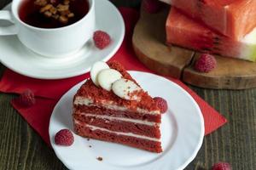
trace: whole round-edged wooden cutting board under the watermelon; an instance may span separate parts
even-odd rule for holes
[[[209,73],[193,70],[200,55],[193,50],[166,46],[166,18],[169,9],[158,14],[141,10],[132,37],[133,48],[144,65],[160,75],[181,79],[201,88],[256,88],[256,63],[216,56],[218,66]]]

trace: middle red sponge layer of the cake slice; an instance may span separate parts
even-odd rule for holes
[[[158,126],[148,126],[144,124],[125,121],[110,121],[108,119],[101,119],[95,118],[93,116],[84,116],[78,114],[74,114],[73,119],[95,127],[107,128],[108,130],[115,132],[135,133],[151,138],[160,139],[160,129]]]

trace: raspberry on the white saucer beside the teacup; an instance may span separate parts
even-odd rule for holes
[[[95,31],[93,34],[93,40],[97,48],[106,48],[111,42],[111,37],[105,31]]]

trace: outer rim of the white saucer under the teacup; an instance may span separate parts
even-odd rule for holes
[[[124,41],[125,38],[125,21],[124,18],[122,17],[122,14],[120,14],[118,8],[116,8],[113,3],[109,2],[108,0],[102,0],[102,2],[104,3],[108,3],[108,5],[110,5],[111,10],[114,10],[114,12],[117,14],[116,16],[119,18],[118,20],[120,21],[119,24],[119,29],[120,29],[120,37],[118,39],[118,41],[116,42],[116,46],[113,47],[113,50],[110,51],[104,58],[100,59],[102,61],[108,61],[108,59],[111,59],[113,57],[114,54],[117,53],[117,51],[119,50],[119,48],[122,45],[122,42]],[[9,10],[9,8],[11,7],[12,3],[8,3],[3,10]],[[96,25],[96,29],[97,29],[97,25]],[[16,36],[16,35],[13,35]],[[20,42],[21,43],[21,42]],[[23,44],[22,44],[23,45]],[[25,46],[24,46],[25,48]],[[29,50],[29,49],[28,49]],[[33,52],[32,52],[33,53]],[[34,53],[35,54],[35,53]],[[39,54],[35,54],[35,56],[40,56]],[[81,69],[79,71],[73,71],[73,73],[71,74],[65,74],[65,75],[57,75],[57,76],[52,76],[52,74],[50,75],[44,75],[44,74],[40,74],[40,75],[35,75],[32,72],[33,71],[24,71],[24,69],[18,69],[15,68],[14,66],[10,65],[9,62],[4,61],[3,59],[1,59],[2,57],[0,57],[0,62],[5,65],[7,68],[9,68],[12,71],[15,71],[18,74],[21,74],[23,76],[26,77],[32,77],[32,78],[37,78],[37,79],[44,79],[44,80],[57,80],[57,79],[64,79],[64,78],[70,78],[70,77],[77,77],[77,76],[81,76],[85,73],[87,73],[88,71],[90,71],[90,66],[87,67],[86,69]],[[47,59],[47,57],[45,57],[44,59]],[[55,71],[52,71],[52,73]],[[54,75],[54,74],[53,74]]]

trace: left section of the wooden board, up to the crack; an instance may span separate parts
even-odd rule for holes
[[[166,46],[165,25],[168,13],[169,8],[164,8],[157,14],[148,14],[141,8],[132,45],[137,58],[150,70],[180,79],[183,68],[190,64],[195,52]]]

